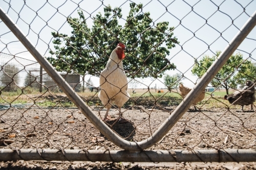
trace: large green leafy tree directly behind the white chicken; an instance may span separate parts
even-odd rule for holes
[[[155,23],[142,4],[130,4],[124,26],[118,24],[121,8],[104,8],[104,14],[93,17],[89,28],[83,12],[79,18],[68,18],[72,35],[52,32],[55,52],[48,60],[58,71],[75,71],[80,75],[99,77],[118,42],[126,46],[123,67],[131,78],[162,77],[165,70],[175,69],[166,56],[179,43],[167,21]],[[123,18],[121,18],[123,19]]]

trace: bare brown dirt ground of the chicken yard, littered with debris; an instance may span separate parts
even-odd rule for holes
[[[191,107],[192,108],[192,107]],[[101,117],[105,110],[93,107]],[[99,109],[99,110],[96,110]],[[129,141],[141,141],[154,133],[175,107],[122,108],[127,123],[108,125]],[[249,107],[244,107],[249,110]],[[112,108],[110,116],[117,118]],[[122,150],[105,138],[78,109],[10,108],[0,111],[0,149]],[[164,138],[147,150],[256,149],[256,113],[237,109],[188,110]],[[112,125],[112,126],[111,126]],[[3,141],[6,142],[3,142]],[[1,162],[1,169],[256,169],[250,163],[138,163],[138,162]]]

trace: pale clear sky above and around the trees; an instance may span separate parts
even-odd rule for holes
[[[79,8],[88,17],[87,23],[91,27],[93,20],[90,16],[94,16],[98,12],[103,13],[104,5],[110,4],[112,7],[120,7],[123,19],[120,19],[119,23],[124,25],[130,10],[129,4],[132,1],[49,0],[47,2],[44,0],[29,0],[25,2],[0,0],[0,7],[27,35],[37,50],[48,57],[50,56],[48,45],[54,49],[51,32],[58,31],[71,35],[72,30],[67,23],[67,17],[77,17]],[[194,65],[194,60],[200,59],[204,55],[212,56],[216,51],[223,51],[228,42],[256,10],[255,0],[141,0],[135,3],[142,3],[143,12],[150,12],[155,23],[168,21],[169,27],[175,27],[174,36],[178,38],[180,44],[170,50],[170,55],[167,58],[177,66],[177,69],[166,71],[166,74],[183,73],[186,79],[183,79],[182,82],[189,87],[193,87],[197,80],[197,77],[192,76],[190,71]],[[34,60],[26,48],[9,32],[3,22],[0,22],[0,28],[0,52]],[[249,59],[252,62],[256,62],[255,48],[256,28],[239,46],[237,52],[242,53],[245,59],[250,57]],[[93,78],[92,80],[94,85],[98,86],[98,79]],[[155,84],[157,84],[157,88],[164,87],[164,84],[161,83],[162,79],[159,80],[148,78],[140,81],[143,84],[150,85],[150,87],[155,86]],[[140,87],[145,86],[141,85]]]

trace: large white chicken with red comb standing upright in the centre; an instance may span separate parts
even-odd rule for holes
[[[101,90],[98,96],[106,107],[104,120],[109,119],[108,113],[113,102],[118,106],[118,119],[121,118],[121,107],[130,99],[130,94],[127,92],[128,81],[122,62],[125,57],[124,50],[124,44],[117,44],[117,47],[110,55],[108,63],[100,73],[99,84]]]

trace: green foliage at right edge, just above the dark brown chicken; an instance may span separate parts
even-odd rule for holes
[[[245,85],[246,80],[255,81],[256,80],[256,63],[249,62],[246,65],[245,71],[240,71],[235,76],[237,79],[237,84]]]

